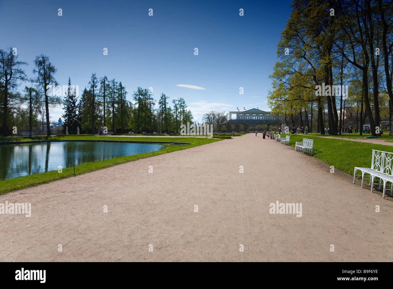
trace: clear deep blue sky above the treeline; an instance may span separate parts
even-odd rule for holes
[[[199,122],[210,110],[268,109],[268,76],[291,3],[0,0],[2,30],[9,31],[0,48],[16,47],[30,77],[42,53],[56,66],[61,85],[71,77],[83,90],[96,73],[121,81],[129,100],[138,86],[152,87],[155,99],[162,92],[170,102],[182,97]],[[60,107],[51,109],[51,121],[61,114]]]

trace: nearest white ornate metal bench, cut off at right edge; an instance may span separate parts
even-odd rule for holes
[[[385,198],[386,191],[386,183],[391,182],[391,189],[393,190],[393,153],[389,153],[387,151],[377,151],[373,149],[373,156],[371,158],[371,168],[359,168],[355,167],[353,172],[353,183],[355,183],[356,171],[362,172],[362,188],[363,188],[363,180],[364,174],[367,173],[370,175],[370,183],[371,183],[371,192],[373,192],[374,186],[374,178],[377,177],[380,179],[379,188],[381,188],[381,182],[384,182],[384,192],[382,198]],[[360,175],[359,175],[360,176]]]

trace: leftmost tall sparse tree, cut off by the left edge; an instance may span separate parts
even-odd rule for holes
[[[11,92],[18,86],[18,79],[26,79],[26,74],[20,66],[27,65],[27,63],[17,59],[18,55],[14,55],[12,47],[9,48],[9,51],[0,49],[0,88],[3,88],[3,136],[9,136],[7,121]]]

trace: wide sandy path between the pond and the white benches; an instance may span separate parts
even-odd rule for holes
[[[393,202],[329,171],[246,134],[11,192],[33,212],[0,215],[0,261],[393,261]]]

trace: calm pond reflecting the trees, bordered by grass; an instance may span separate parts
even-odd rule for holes
[[[96,160],[158,151],[162,144],[38,142],[0,145],[0,180],[57,170]]]

